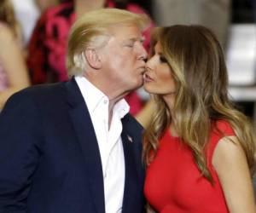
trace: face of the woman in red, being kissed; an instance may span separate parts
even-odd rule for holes
[[[153,95],[174,95],[176,92],[172,69],[162,54],[162,48],[159,42],[155,44],[154,55],[152,55],[146,64],[144,89]]]

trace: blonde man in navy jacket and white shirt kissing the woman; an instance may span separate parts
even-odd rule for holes
[[[123,99],[143,84],[144,16],[75,22],[66,83],[12,96],[0,114],[0,212],[143,211],[142,128]]]

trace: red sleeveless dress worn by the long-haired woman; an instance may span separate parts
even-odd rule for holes
[[[218,175],[212,166],[212,154],[224,135],[235,135],[229,123],[220,120],[212,130],[207,149],[207,164],[214,184],[201,176],[192,152],[169,131],[160,140],[154,161],[148,166],[144,193],[148,203],[160,213],[229,212]]]

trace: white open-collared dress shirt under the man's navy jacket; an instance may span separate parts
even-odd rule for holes
[[[113,116],[108,127],[108,96],[97,89],[86,78],[77,76],[76,82],[90,112],[96,139],[102,158],[106,213],[122,211],[125,188],[125,158],[121,140],[121,118],[130,110],[122,99],[113,107]]]

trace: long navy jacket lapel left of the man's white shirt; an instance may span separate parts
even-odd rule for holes
[[[95,130],[90,119],[90,113],[84,103],[84,98],[74,78],[67,82],[66,85],[67,101],[71,106],[69,110],[70,118],[84,155],[84,166],[87,170],[86,176],[89,177],[90,191],[97,212],[103,213],[105,212],[105,204],[102,161]]]

